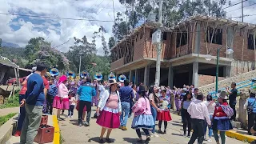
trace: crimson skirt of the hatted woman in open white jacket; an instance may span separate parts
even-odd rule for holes
[[[118,113],[114,114],[112,112],[102,110],[96,123],[107,129],[117,129],[120,126],[120,116]]]

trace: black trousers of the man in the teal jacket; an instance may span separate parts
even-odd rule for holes
[[[83,108],[86,106],[86,122],[90,123],[91,102],[79,101],[78,122],[82,122]]]

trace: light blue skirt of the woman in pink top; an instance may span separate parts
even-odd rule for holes
[[[133,122],[131,124],[131,128],[133,129],[150,129],[152,130],[154,126],[154,118],[152,115],[141,114],[138,116],[134,116]]]

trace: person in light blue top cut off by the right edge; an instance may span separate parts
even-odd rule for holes
[[[254,122],[256,122],[256,99],[255,99],[255,90],[250,90],[250,97],[246,99],[246,103],[244,105],[244,109],[247,110],[248,114],[248,134],[250,133],[250,128],[254,126]]]

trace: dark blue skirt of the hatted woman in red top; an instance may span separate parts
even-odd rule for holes
[[[229,118],[223,118],[223,119],[214,119],[213,122],[213,130],[220,130],[220,131],[226,131],[233,129],[233,126],[231,125]]]

